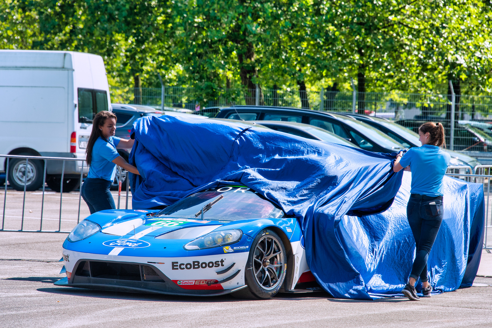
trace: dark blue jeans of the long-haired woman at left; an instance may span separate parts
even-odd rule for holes
[[[91,214],[103,209],[116,209],[110,187],[111,181],[105,179],[88,178],[84,180],[81,194]]]

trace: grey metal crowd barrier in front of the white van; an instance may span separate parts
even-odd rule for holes
[[[0,231],[15,231],[15,232],[50,232],[50,233],[69,233],[70,231],[62,231],[62,202],[63,202],[63,178],[65,174],[65,163],[67,161],[77,161],[81,162],[80,165],[80,186],[79,186],[79,207],[78,207],[78,213],[77,213],[77,223],[80,222],[80,204],[81,204],[81,191],[82,191],[82,184],[83,184],[83,174],[84,174],[84,167],[87,168],[87,165],[84,166],[85,163],[85,158],[69,158],[69,157],[46,157],[46,156],[26,156],[26,155],[0,155],[0,158],[6,158],[6,165],[5,165],[5,188],[4,188],[4,194],[3,194],[3,212],[2,212],[2,224],[1,224],[1,229]],[[40,215],[40,222],[39,222],[39,230],[25,230],[24,229],[24,213],[26,209],[26,187],[27,187],[27,177],[28,174],[27,172],[24,174],[24,195],[23,195],[23,201],[22,201],[22,217],[21,217],[21,229],[19,230],[7,230],[5,229],[5,207],[6,207],[6,200],[7,200],[7,184],[8,184],[8,172],[9,172],[9,162],[11,158],[21,158],[21,159],[26,159],[26,171],[28,168],[28,163],[30,159],[37,159],[37,160],[42,160],[44,162],[44,170],[43,170],[43,184],[42,184],[42,198],[41,198],[41,215]],[[43,230],[43,210],[44,210],[44,196],[45,196],[45,185],[46,185],[46,162],[47,160],[58,160],[58,161],[63,161],[62,163],[62,179],[60,181],[60,211],[59,211],[59,219],[58,219],[58,230]],[[122,171],[122,169],[117,166],[118,168],[118,173],[120,176],[120,182],[119,182],[119,190],[118,190],[118,207],[117,209],[120,209],[120,198],[121,198],[121,188],[122,188],[122,179],[124,179],[127,176],[127,171]],[[125,209],[128,209],[128,193],[129,191],[129,179],[126,179],[126,202],[125,202]]]

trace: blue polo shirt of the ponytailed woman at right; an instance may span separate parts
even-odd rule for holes
[[[437,146],[423,145],[408,149],[400,159],[400,165],[410,165],[412,171],[412,194],[431,197],[442,196],[442,179],[451,156]]]

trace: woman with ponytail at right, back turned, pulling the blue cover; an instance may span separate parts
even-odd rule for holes
[[[421,147],[413,147],[404,155],[397,155],[393,170],[400,171],[410,167],[412,184],[406,214],[413,238],[416,254],[408,283],[401,291],[411,300],[419,300],[415,283],[422,282],[422,297],[431,297],[432,287],[427,275],[427,259],[442,221],[442,179],[451,156],[441,148],[446,147],[444,126],[441,123],[427,122],[419,127]]]

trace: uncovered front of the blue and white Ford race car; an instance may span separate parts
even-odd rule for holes
[[[260,299],[321,290],[303,242],[295,218],[244,185],[222,184],[160,211],[90,215],[64,241],[67,276],[55,285]]]

